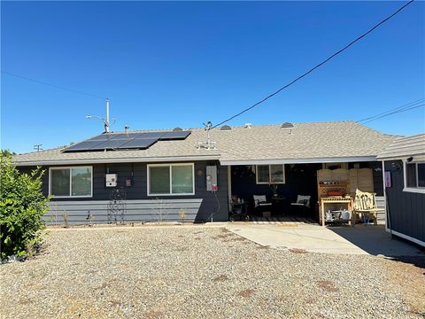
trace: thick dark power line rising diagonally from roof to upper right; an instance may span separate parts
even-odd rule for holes
[[[288,84],[282,86],[281,89],[276,90],[274,93],[268,95],[267,97],[264,97],[263,99],[261,99],[259,102],[255,103],[254,105],[251,105],[250,107],[245,108],[243,111],[236,113],[235,115],[229,117],[227,120],[225,121],[221,121],[219,124],[216,124],[213,126],[213,128],[217,128],[218,126],[231,121],[233,119],[235,119],[237,116],[242,115],[243,113],[246,113],[248,111],[250,111],[251,109],[253,109],[255,106],[260,105],[263,102],[266,102],[267,99],[269,99],[270,97],[274,97],[276,94],[280,93],[283,89],[286,89],[288,87],[290,87],[292,84],[294,84],[295,82],[298,82],[299,80],[301,80],[302,78],[304,78],[306,75],[311,74],[315,69],[323,66],[325,63],[327,63],[331,58],[335,58],[338,54],[342,53],[343,51],[347,50],[348,48],[350,48],[352,46],[352,44],[357,43],[360,39],[364,38],[366,35],[370,34],[372,31],[375,30],[375,28],[381,26],[383,23],[385,23],[386,21],[388,21],[389,19],[391,19],[392,17],[394,17],[396,14],[398,14],[398,12],[401,12],[403,9],[406,8],[407,5],[412,4],[414,0],[409,1],[407,4],[402,5],[396,12],[393,12],[392,14],[390,14],[390,16],[388,16],[387,18],[383,19],[381,22],[379,22],[378,24],[376,24],[374,27],[371,27],[369,30],[367,30],[367,32],[365,32],[363,35],[360,35],[358,38],[356,38],[355,40],[353,40],[351,43],[348,43],[347,45],[344,46],[344,48],[342,48],[339,51],[336,51],[334,54],[332,54],[330,57],[326,58],[325,60],[323,60],[321,63],[319,63],[316,66],[313,66],[313,68],[311,68],[310,70],[308,70],[307,72],[305,72],[305,74],[301,74],[298,76],[298,78],[296,78],[295,80],[289,82]]]

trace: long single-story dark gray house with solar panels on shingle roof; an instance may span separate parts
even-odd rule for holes
[[[42,191],[53,197],[53,223],[227,221],[232,195],[251,205],[256,194],[284,198],[285,205],[309,195],[317,219],[318,171],[344,187],[350,172],[351,188],[364,185],[384,204],[376,156],[396,137],[354,121],[133,130],[20,154],[14,162],[24,172],[45,169]]]

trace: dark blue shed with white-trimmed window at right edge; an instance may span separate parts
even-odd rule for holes
[[[377,159],[385,171],[387,231],[425,246],[425,134],[396,139]]]

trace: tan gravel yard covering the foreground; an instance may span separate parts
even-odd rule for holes
[[[41,254],[0,265],[0,311],[10,318],[412,318],[425,314],[421,267],[274,250],[211,226],[51,230]]]

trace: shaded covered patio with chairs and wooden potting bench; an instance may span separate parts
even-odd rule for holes
[[[242,210],[251,221],[259,223],[320,223],[322,209],[325,223],[344,223],[341,214],[336,220],[329,212],[347,210],[351,216],[357,189],[375,193],[379,207],[385,204],[382,163],[376,160],[273,160],[232,165],[228,167],[228,185],[230,215]],[[384,223],[384,219],[384,214],[380,214],[377,222]],[[351,217],[345,222],[350,220]]]

